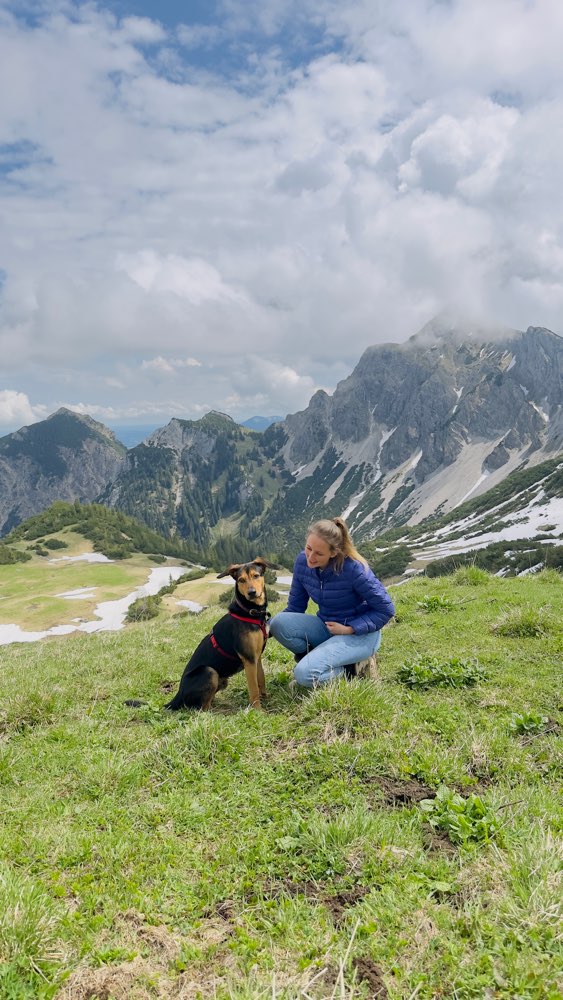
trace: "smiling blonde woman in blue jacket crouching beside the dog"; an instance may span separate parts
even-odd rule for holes
[[[309,598],[316,615],[305,614]],[[353,665],[379,649],[381,629],[394,614],[385,587],[335,517],[309,528],[287,608],[272,618],[270,634],[295,654],[297,683],[317,687],[353,675]]]

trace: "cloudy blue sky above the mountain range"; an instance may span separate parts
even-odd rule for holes
[[[0,0],[0,434],[563,334],[561,0]]]

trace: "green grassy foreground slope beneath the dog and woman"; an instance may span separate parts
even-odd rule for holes
[[[290,688],[271,640],[263,713],[162,712],[217,607],[3,647],[2,1000],[561,997],[563,633],[492,628],[560,581],[394,593],[381,682]]]

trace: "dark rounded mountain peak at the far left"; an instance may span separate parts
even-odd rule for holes
[[[0,438],[0,534],[55,500],[94,500],[125,452],[103,424],[65,408]]]

